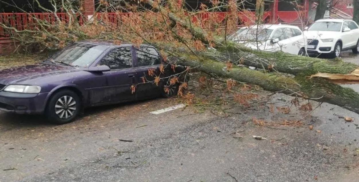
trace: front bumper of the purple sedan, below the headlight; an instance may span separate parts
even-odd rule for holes
[[[23,94],[0,91],[0,110],[17,114],[41,114],[49,93]]]

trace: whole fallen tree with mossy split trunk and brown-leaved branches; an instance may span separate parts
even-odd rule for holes
[[[258,85],[266,91],[328,102],[359,113],[359,94],[333,83],[356,83],[359,80],[356,74],[358,65],[340,59],[326,60],[249,49],[227,40],[225,35],[220,36],[211,32],[212,30],[200,28],[192,23],[183,9],[174,11],[160,6],[157,1],[146,2],[157,9],[160,16],[149,12],[149,15],[143,16],[134,14],[132,19],[121,17],[123,24],[120,28],[109,26],[102,21],[89,22],[82,26],[73,22],[71,27],[63,22],[57,25],[42,23],[45,30],[32,30],[32,33],[35,33],[32,35],[28,31],[18,31],[2,25],[3,28],[15,30],[17,37],[14,35],[14,38],[18,40],[55,42],[51,45],[58,47],[68,41],[93,38],[111,39],[114,43],[130,41],[135,45],[146,42],[157,46],[163,51],[162,54],[167,53],[169,64],[190,66],[211,75]],[[48,31],[48,27],[52,28],[51,31]],[[25,38],[21,37],[22,35],[25,35]],[[158,41],[162,44],[155,43]],[[251,70],[237,64],[271,72]]]

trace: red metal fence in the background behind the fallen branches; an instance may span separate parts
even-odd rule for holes
[[[97,19],[106,20],[113,25],[121,24],[124,18],[129,18],[132,13],[96,13]],[[227,12],[211,12],[211,13],[199,13],[192,15],[191,19],[193,22],[199,22],[200,25],[205,26],[211,23],[223,24]],[[57,16],[57,17],[56,17]],[[82,23],[82,17],[76,15],[69,15],[67,13],[0,13],[0,23],[5,24],[8,27],[15,28],[16,30],[36,30],[41,25],[37,20],[47,21],[50,24],[54,24],[57,19],[67,23],[70,17],[77,19]],[[278,19],[283,23],[292,23],[299,19],[297,11],[278,11]],[[255,12],[253,11],[241,11],[238,12],[239,24],[251,25],[256,21]],[[211,20],[211,21],[209,21]],[[270,23],[271,12],[266,11],[262,17],[264,23]],[[0,37],[8,36],[12,30],[2,28],[0,26]]]

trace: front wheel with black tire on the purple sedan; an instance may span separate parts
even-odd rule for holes
[[[81,99],[75,92],[61,90],[51,96],[45,114],[50,123],[71,123],[80,114],[81,106]]]

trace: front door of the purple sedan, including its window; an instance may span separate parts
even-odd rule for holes
[[[90,93],[92,105],[126,102],[135,99],[131,91],[131,86],[135,84],[132,55],[131,47],[118,47],[112,49],[99,61],[97,66],[106,65],[110,71],[102,73],[106,77],[107,85],[103,88],[103,94]]]

